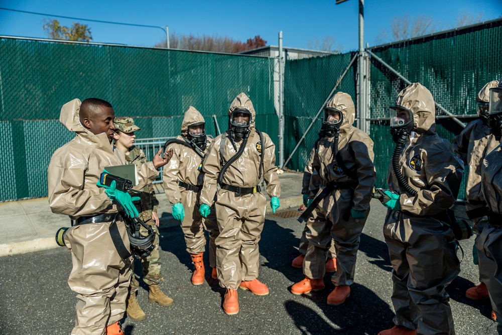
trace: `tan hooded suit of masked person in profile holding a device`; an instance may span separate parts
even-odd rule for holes
[[[442,219],[458,195],[463,164],[451,144],[436,134],[431,92],[419,83],[403,89],[396,105],[413,113],[413,130],[399,156],[400,170],[416,195],[398,183],[392,168],[389,189],[400,194],[401,210],[387,212],[384,237],[393,266],[394,322],[419,334],[453,334],[445,287],[458,275],[457,242]]]

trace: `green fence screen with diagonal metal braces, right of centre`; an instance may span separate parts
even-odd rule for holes
[[[429,88],[435,101],[450,113],[473,115],[476,114],[477,92],[485,83],[499,79],[502,75],[502,20],[369,50],[411,82],[420,82]],[[286,157],[349,64],[350,58],[349,54],[343,54],[322,59],[287,61],[284,110],[291,135],[286,141]],[[389,106],[394,105],[399,91],[407,84],[376,59],[370,57],[370,64],[368,119],[388,118]],[[337,89],[349,93],[354,102],[355,71],[356,62]],[[445,114],[436,108],[436,115]],[[468,123],[475,119],[460,120]],[[389,135],[389,122],[377,120],[368,123],[369,135],[374,142],[377,185],[385,186],[395,147]],[[319,129],[320,121],[317,121],[307,134],[307,143],[299,147],[288,164],[289,168],[303,170]],[[452,120],[437,120],[438,134],[450,142],[461,130]],[[464,188],[461,186],[461,193]],[[463,193],[459,196],[462,197]]]

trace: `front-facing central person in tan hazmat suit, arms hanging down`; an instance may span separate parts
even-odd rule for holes
[[[239,311],[237,288],[257,295],[269,293],[258,278],[258,242],[265,222],[265,195],[258,185],[267,184],[272,209],[279,207],[281,187],[275,166],[275,145],[255,126],[255,108],[240,93],[228,109],[229,129],[217,136],[204,160],[204,186],[200,196],[202,216],[209,213],[217,183],[215,209],[219,236],[216,238],[216,265],[221,287],[226,288],[223,311]]]

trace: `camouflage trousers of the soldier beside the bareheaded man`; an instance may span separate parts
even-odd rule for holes
[[[160,273],[160,266],[161,262],[159,260],[159,228],[155,225],[155,222],[152,219],[149,219],[148,221],[145,222],[148,226],[152,227],[154,231],[157,233],[155,234],[155,240],[154,240],[154,245],[155,248],[150,254],[150,256],[146,258],[141,259],[141,267],[143,268],[143,281],[145,284],[148,286],[154,285],[154,284],[159,284],[161,280],[161,273]],[[140,233],[147,235],[147,229],[144,227],[141,227]],[[133,270],[134,270],[134,263],[135,262],[140,262],[139,259],[135,258],[133,262]],[[136,279],[136,275],[134,274],[133,271],[133,276],[131,277],[131,294],[135,293],[138,291],[138,288],[140,287],[140,283],[138,282],[138,279]]]

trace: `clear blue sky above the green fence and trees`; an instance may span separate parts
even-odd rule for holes
[[[278,44],[283,31],[284,45],[307,48],[308,41],[326,35],[335,38],[335,46],[355,50],[358,46],[358,2],[349,0],[335,5],[325,1],[106,1],[106,0],[0,0],[0,7],[103,21],[169,26],[177,35],[228,36],[245,41],[260,35],[269,45]],[[396,16],[430,15],[445,28],[454,26],[457,17],[469,13],[482,20],[502,16],[502,0],[365,0],[365,38],[377,44],[381,29],[390,29]],[[0,10],[0,34],[46,37],[43,16]],[[52,19],[47,17],[47,19]],[[58,19],[64,25],[72,20]],[[153,46],[165,41],[160,29],[118,26],[80,21],[88,24],[94,42]]]

